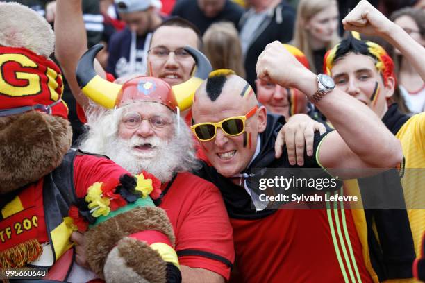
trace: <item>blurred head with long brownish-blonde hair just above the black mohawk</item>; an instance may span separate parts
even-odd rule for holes
[[[212,24],[203,35],[203,51],[213,69],[231,69],[245,77],[238,31],[231,22]]]

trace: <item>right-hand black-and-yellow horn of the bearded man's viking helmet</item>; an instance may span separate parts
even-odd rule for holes
[[[192,78],[186,80],[184,83],[174,85],[172,87],[178,108],[180,108],[181,111],[187,110],[192,106],[192,99],[195,91],[201,85],[203,80],[208,78],[208,74],[213,71],[210,61],[205,55],[203,55],[203,53],[201,53],[201,51],[190,46],[185,46],[185,51],[188,51],[188,53],[190,53],[190,55],[194,58],[197,70]]]

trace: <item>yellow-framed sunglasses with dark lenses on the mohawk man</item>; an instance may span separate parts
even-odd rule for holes
[[[245,121],[256,114],[258,106],[249,110],[244,116],[229,117],[217,123],[197,123],[190,126],[194,135],[200,141],[210,141],[217,135],[217,128],[221,128],[228,136],[237,136],[245,131]]]

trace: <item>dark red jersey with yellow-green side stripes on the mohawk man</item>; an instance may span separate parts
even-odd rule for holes
[[[231,223],[240,276],[232,282],[372,282],[350,210],[282,209]]]

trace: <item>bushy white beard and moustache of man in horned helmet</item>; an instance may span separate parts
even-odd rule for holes
[[[158,137],[144,139],[135,136],[124,140],[115,137],[106,144],[104,154],[132,174],[139,174],[144,170],[155,175],[164,183],[172,179],[180,160],[181,149],[176,146],[174,139],[164,141]],[[152,146],[147,152],[134,148],[134,146],[147,143]]]

